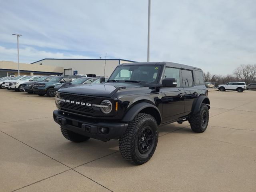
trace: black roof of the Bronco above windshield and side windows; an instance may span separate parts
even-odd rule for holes
[[[126,65],[166,65],[168,67],[174,67],[174,68],[182,68],[182,69],[188,69],[188,70],[201,70],[200,68],[179,64],[179,63],[172,63],[172,62],[136,62],[136,63],[123,63],[120,64],[120,66],[126,66]]]

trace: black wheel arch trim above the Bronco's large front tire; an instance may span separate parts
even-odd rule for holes
[[[124,115],[122,118],[122,122],[130,122],[134,119],[134,117],[138,113],[146,113],[152,115],[155,119],[158,125],[160,125],[162,121],[162,116],[159,111],[159,109],[154,106],[153,104],[147,103],[147,102],[139,102],[137,104],[134,104]]]

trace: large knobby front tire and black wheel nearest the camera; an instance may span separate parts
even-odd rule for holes
[[[156,150],[158,127],[152,115],[139,113],[129,122],[126,132],[119,139],[122,157],[137,165],[146,163]]]

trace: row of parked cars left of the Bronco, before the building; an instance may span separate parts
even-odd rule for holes
[[[100,83],[95,74],[74,76],[18,76],[0,78],[0,88],[54,97],[59,88],[75,84]]]

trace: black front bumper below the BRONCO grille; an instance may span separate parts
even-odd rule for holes
[[[80,116],[65,115],[59,110],[54,110],[53,119],[67,130],[103,141],[120,138],[128,127],[128,123],[124,122],[95,121]],[[108,132],[100,133],[100,128],[106,128]]]

